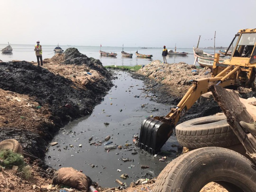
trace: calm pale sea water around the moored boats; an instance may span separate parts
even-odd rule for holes
[[[13,48],[13,52],[10,54],[0,54],[0,60],[2,61],[12,61],[12,60],[21,60],[21,61],[36,61],[36,55],[34,52],[34,45],[15,45],[10,44]],[[2,50],[7,45],[0,44],[0,50]],[[43,59],[51,58],[55,55],[54,48],[57,46],[54,45],[42,45],[43,48]],[[153,47],[153,48],[140,48],[140,47],[96,47],[96,46],[76,46],[76,45],[59,45],[64,51],[67,48],[75,47],[81,52],[85,54],[87,57],[93,57],[95,59],[99,59],[103,66],[107,65],[125,65],[125,66],[135,66],[135,65],[147,65],[151,61],[162,59],[162,50],[161,47]],[[101,56],[99,54],[99,50],[105,52],[115,52],[117,53],[116,57],[106,57]],[[174,48],[168,48],[168,50],[174,50]],[[121,51],[124,50],[127,53],[132,53],[132,58],[123,57]],[[138,50],[140,54],[153,55],[151,59],[149,58],[141,58],[136,57],[135,52]],[[212,49],[204,49],[205,52],[213,54],[214,50]],[[195,58],[193,55],[193,48],[177,48],[177,52],[188,52],[187,56],[175,56],[175,55],[167,55],[166,59],[168,63],[179,63],[185,62],[189,65],[193,65]],[[216,51],[218,52],[218,50]],[[198,65],[198,63],[196,63]]]

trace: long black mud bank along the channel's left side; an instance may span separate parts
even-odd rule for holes
[[[96,65],[94,63],[95,68]],[[14,138],[22,144],[25,151],[43,157],[47,142],[53,138],[58,127],[90,114],[113,86],[112,75],[105,68],[98,68],[105,79],[90,82],[86,88],[80,88],[71,80],[26,61],[0,63],[0,88],[34,97],[42,108],[49,108],[52,113],[50,120],[56,125],[43,122],[38,133],[18,127],[1,127],[0,140]]]

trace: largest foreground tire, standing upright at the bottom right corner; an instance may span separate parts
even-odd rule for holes
[[[253,163],[221,147],[195,149],[171,161],[159,174],[153,192],[198,192],[215,182],[229,192],[255,192]]]

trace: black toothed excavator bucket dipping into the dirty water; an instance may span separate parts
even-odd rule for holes
[[[172,133],[173,127],[169,124],[148,117],[141,124],[139,147],[155,154],[160,151]]]

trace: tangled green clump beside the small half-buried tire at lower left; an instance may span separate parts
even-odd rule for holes
[[[20,169],[25,166],[23,156],[21,154],[14,153],[9,149],[0,151],[0,159],[2,160],[0,165],[7,169],[11,169],[13,165],[18,166]]]

